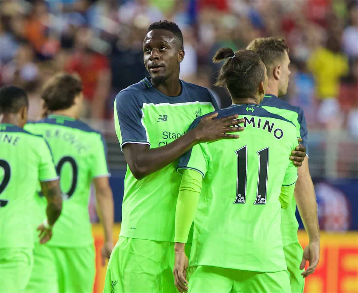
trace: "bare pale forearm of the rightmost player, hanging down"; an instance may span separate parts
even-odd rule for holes
[[[295,200],[310,242],[319,241],[317,203],[313,182],[309,174],[307,158],[302,167],[298,169]]]

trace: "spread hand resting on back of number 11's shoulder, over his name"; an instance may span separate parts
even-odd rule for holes
[[[239,124],[244,123],[245,120],[237,119],[237,114],[214,119],[217,116],[218,113],[215,112],[203,117],[198,126],[194,128],[199,142],[217,141],[222,138],[239,138],[239,135],[227,133],[243,131],[244,128]]]

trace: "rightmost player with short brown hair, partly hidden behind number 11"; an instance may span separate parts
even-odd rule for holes
[[[269,85],[261,106],[267,111],[281,115],[292,121],[297,128],[297,136],[300,136],[308,153],[308,132],[303,110],[291,106],[278,97],[287,93],[289,82],[289,48],[284,39],[257,38],[253,40],[247,49],[256,52],[266,65]],[[298,222],[296,219],[296,202],[301,219],[309,236],[309,244],[303,250],[298,238]],[[317,217],[317,204],[315,192],[308,168],[308,155],[298,169],[298,180],[295,188],[295,196],[290,206],[282,210],[281,222],[282,240],[284,243],[285,258],[292,292],[303,292],[304,278],[312,274],[319,262],[319,225]],[[309,267],[303,272],[306,261]]]

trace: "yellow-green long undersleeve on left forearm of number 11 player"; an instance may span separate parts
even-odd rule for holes
[[[202,175],[197,171],[188,169],[183,171],[175,210],[174,241],[176,243],[188,241],[188,234],[199,202],[202,180]]]

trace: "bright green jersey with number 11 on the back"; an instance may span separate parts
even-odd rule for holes
[[[297,180],[289,159],[296,128],[255,104],[222,109],[218,118],[233,114],[245,119],[239,139],[200,143],[179,161],[178,172],[193,169],[204,177],[190,266],[285,270],[279,196]]]

